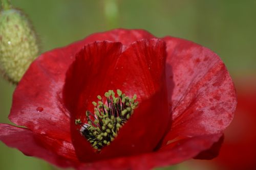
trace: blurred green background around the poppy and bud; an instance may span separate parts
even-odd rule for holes
[[[12,0],[37,31],[42,52],[113,28],[145,29],[155,36],[172,35],[216,52],[231,77],[255,76],[256,1],[237,0]],[[14,86],[0,78],[0,122],[10,123]],[[0,143],[0,169],[52,169]],[[175,166],[187,168],[188,163]],[[204,167],[203,163],[195,169]],[[166,168],[169,169],[169,168]]]

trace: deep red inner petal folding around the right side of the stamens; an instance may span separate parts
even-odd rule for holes
[[[118,88],[119,84],[130,95],[136,93],[141,103],[101,154],[110,157],[151,152],[162,138],[170,120],[164,77],[165,48],[162,40],[144,39],[133,43],[120,56],[119,74],[113,85]]]

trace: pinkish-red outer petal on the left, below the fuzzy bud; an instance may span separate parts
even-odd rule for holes
[[[81,47],[79,44],[55,49],[31,64],[13,94],[9,115],[13,123],[70,141],[70,116],[63,107],[61,89],[74,53]]]

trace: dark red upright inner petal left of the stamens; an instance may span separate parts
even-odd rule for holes
[[[95,41],[82,48],[67,72],[63,96],[71,112],[71,135],[76,152],[81,159],[91,160],[96,155],[89,142],[80,135],[75,119],[86,120],[86,110],[93,110],[92,102],[98,94],[110,90],[111,79],[122,44]],[[82,76],[81,76],[82,75]]]

